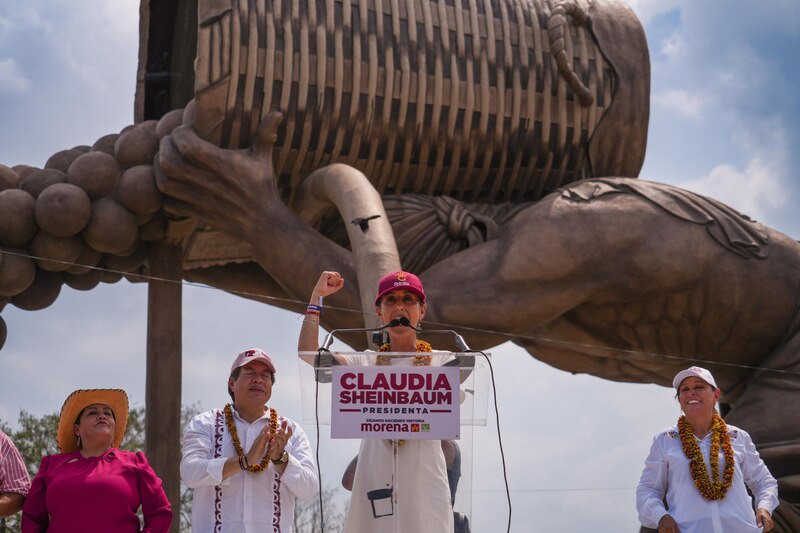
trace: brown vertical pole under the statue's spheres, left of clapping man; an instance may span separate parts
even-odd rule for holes
[[[148,288],[145,447],[172,504],[172,533],[181,504],[181,265],[180,247],[151,248],[150,275],[170,281],[151,280]]]

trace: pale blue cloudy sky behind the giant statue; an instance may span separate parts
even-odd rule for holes
[[[800,236],[800,9],[796,0],[638,0],[652,68],[640,177],[718,198]],[[43,166],[133,120],[138,58],[134,0],[0,0],[0,163]],[[309,287],[309,290],[311,287]],[[184,404],[228,400],[241,349],[278,365],[273,403],[304,417],[296,333],[301,318],[197,286],[183,292]],[[47,309],[2,309],[0,419],[58,411],[76,388],[122,387],[144,403],[147,286],[64,287]],[[334,348],[347,349],[340,341]],[[668,388],[553,369],[510,344],[491,350],[511,489],[511,530],[638,531],[634,492],[653,435],[674,424]],[[472,431],[473,531],[505,530],[496,418]],[[316,443],[313,424],[304,424]],[[323,479],[336,485],[356,446],[322,426]],[[469,448],[469,446],[467,446]]]

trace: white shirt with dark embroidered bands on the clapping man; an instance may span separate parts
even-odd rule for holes
[[[247,451],[269,424],[269,410],[252,424],[240,418],[235,409],[233,417],[239,441]],[[293,420],[286,420],[292,436],[286,443],[289,463],[282,475],[270,462],[262,472],[237,472],[224,481],[225,461],[236,457],[225,415],[221,410],[207,411],[189,422],[183,435],[181,479],[194,489],[194,533],[212,533],[217,523],[224,533],[292,531],[295,499],[312,499],[317,494],[318,477],[305,432]]]

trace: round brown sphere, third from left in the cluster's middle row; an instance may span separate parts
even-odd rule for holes
[[[103,253],[118,254],[136,244],[139,225],[136,215],[111,198],[92,202],[92,214],[83,230],[89,246]]]

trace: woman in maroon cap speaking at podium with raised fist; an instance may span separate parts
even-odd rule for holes
[[[344,279],[337,272],[322,273],[311,293],[311,303],[300,330],[299,351],[319,349],[319,313],[322,310],[319,304],[322,298],[343,286]],[[381,279],[375,311],[384,325],[398,320],[418,327],[425,310],[425,291],[417,276],[393,272]],[[381,352],[417,352],[418,355],[389,357],[370,353],[363,357],[337,357],[343,364],[441,364],[438,361],[441,357],[431,353],[430,344],[417,339],[414,328],[397,325],[386,331],[389,342],[381,346]],[[440,441],[362,440],[344,530],[346,533],[452,533],[453,509]]]

